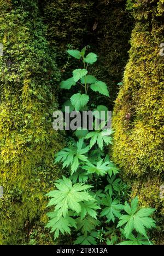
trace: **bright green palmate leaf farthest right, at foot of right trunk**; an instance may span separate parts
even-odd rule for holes
[[[125,236],[128,238],[132,232],[132,230],[136,230],[138,233],[142,234],[144,237],[147,237],[147,232],[145,228],[150,229],[151,227],[155,227],[155,221],[149,217],[149,215],[153,214],[155,209],[153,208],[142,208],[137,212],[138,208],[138,198],[135,197],[131,206],[127,202],[125,202],[124,211],[128,214],[121,215],[120,221],[117,227],[123,226],[125,231]]]

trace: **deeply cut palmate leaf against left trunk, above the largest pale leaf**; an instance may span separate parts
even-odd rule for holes
[[[85,147],[83,139],[79,139],[74,147],[65,147],[61,151],[55,154],[55,163],[63,162],[63,168],[71,165],[71,171],[73,174],[79,167],[79,161],[87,162],[87,153],[90,150],[89,146]]]

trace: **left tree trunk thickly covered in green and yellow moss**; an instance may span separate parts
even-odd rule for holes
[[[0,244],[22,244],[33,219],[44,223],[44,194],[58,177],[51,117],[60,73],[38,1],[1,0],[0,13]]]

